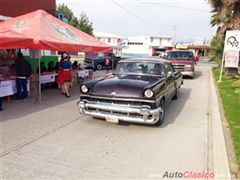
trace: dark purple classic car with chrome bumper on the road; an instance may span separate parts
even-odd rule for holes
[[[119,61],[115,73],[80,87],[80,113],[107,121],[161,125],[165,107],[177,99],[182,74],[166,60]]]

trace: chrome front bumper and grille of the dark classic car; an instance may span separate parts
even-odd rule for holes
[[[90,102],[81,100],[78,102],[80,113],[100,118],[115,118],[120,121],[133,123],[155,124],[159,120],[162,109],[151,109],[150,106],[122,105],[113,103]]]

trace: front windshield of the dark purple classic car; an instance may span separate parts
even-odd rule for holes
[[[163,75],[163,65],[161,63],[149,62],[124,62],[118,63],[116,74],[140,74],[140,75]]]

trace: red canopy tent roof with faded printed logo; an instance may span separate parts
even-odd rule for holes
[[[37,10],[0,23],[0,49],[112,52],[112,46]]]

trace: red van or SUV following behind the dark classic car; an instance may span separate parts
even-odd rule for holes
[[[192,51],[168,51],[166,59],[170,60],[176,71],[181,72],[184,76],[194,78],[195,58]]]

